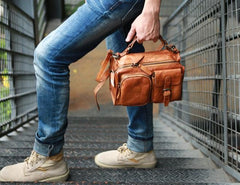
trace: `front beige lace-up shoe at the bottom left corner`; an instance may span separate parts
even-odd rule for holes
[[[68,174],[63,152],[45,157],[32,151],[23,163],[4,167],[0,171],[0,182],[61,182],[67,180]]]

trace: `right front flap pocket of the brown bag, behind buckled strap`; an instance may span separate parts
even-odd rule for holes
[[[152,77],[152,101],[154,103],[163,103],[164,91],[169,91],[170,101],[181,100],[182,79],[181,68],[155,71]]]

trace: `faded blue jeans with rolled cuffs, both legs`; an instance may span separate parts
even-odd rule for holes
[[[125,49],[126,29],[143,5],[144,0],[87,0],[39,43],[34,52],[39,124],[33,149],[37,153],[52,156],[63,148],[68,124],[68,66],[106,37],[109,48]],[[134,50],[140,52],[143,47],[136,45]],[[127,111],[128,147],[136,152],[152,150],[152,104],[127,107]]]

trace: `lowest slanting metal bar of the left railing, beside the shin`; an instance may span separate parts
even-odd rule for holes
[[[10,123],[18,120],[18,119],[21,119],[23,118],[24,116],[28,116],[28,114],[31,114],[32,112],[37,112],[37,107],[34,107],[33,109],[23,113],[23,114],[20,114],[18,115],[17,117],[15,117],[14,119],[11,119],[10,121],[4,123],[3,125],[1,125],[0,127],[3,127],[3,126],[6,126],[6,125],[9,125]],[[8,129],[7,131],[4,131],[2,133],[0,133],[0,138],[17,130],[18,128],[22,127],[24,124],[28,123],[29,121],[35,119],[36,117],[38,116],[38,114],[36,113],[35,115],[31,116],[29,119],[27,119],[26,121],[24,122],[21,122],[20,124],[16,125],[15,127],[11,128],[11,129]]]

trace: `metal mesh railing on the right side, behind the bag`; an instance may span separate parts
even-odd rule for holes
[[[161,115],[239,180],[240,1],[185,0],[163,35],[181,51],[185,77],[183,100]]]

